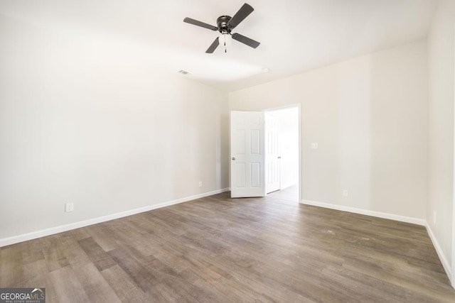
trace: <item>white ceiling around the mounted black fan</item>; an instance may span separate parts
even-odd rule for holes
[[[426,37],[437,0],[247,0],[255,11],[238,32],[261,43],[233,41],[205,50],[216,26],[244,0],[1,0],[0,13],[58,31],[96,33],[147,44],[178,72],[226,91],[392,48]],[[2,43],[4,43],[2,41]],[[269,72],[262,72],[264,67]]]

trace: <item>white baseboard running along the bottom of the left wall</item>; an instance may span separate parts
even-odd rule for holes
[[[44,236],[50,236],[55,233],[61,233],[63,231],[70,231],[75,228],[81,228],[81,227],[85,227],[85,226],[89,226],[89,225],[93,225],[93,224],[102,223],[105,221],[119,219],[119,218],[123,218],[124,216],[132,216],[134,214],[139,214],[144,211],[160,209],[161,207],[166,207],[166,206],[171,206],[173,204],[188,202],[191,200],[208,197],[213,194],[220,194],[221,192],[228,192],[228,190],[230,190],[230,189],[229,188],[218,189],[218,190],[214,190],[212,192],[205,192],[203,194],[195,194],[194,196],[191,196],[191,197],[184,197],[181,199],[175,199],[175,200],[168,201],[168,202],[162,202],[159,204],[153,204],[153,205],[149,205],[149,206],[140,207],[139,209],[131,209],[129,211],[122,211],[117,214],[109,214],[107,216],[100,216],[97,218],[88,219],[88,220],[84,220],[84,221],[78,221],[78,222],[71,223],[71,224],[65,224],[65,225],[55,226],[52,228],[46,228],[41,231],[32,231],[31,233],[23,233],[21,235],[12,236],[9,238],[1,238],[0,247],[9,246],[11,244],[15,244],[15,243],[23,242],[23,241],[33,240],[33,239],[41,238]]]

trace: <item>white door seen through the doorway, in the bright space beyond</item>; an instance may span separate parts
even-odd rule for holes
[[[279,119],[265,114],[265,189],[266,193],[279,189]]]

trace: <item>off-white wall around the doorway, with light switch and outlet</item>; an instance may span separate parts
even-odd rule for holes
[[[229,104],[230,110],[301,104],[304,200],[422,224],[427,84],[421,40],[232,92]],[[311,150],[311,142],[319,149]]]

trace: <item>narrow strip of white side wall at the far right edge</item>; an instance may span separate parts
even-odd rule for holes
[[[441,261],[448,272],[455,261],[451,260],[454,224],[454,26],[455,1],[439,1],[428,37],[427,223],[434,234],[435,246]],[[454,283],[455,279],[452,279],[452,282]]]

